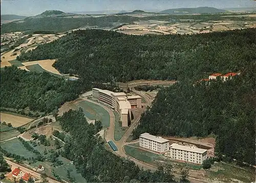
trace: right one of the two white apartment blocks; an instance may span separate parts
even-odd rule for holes
[[[172,144],[170,145],[170,157],[182,162],[202,164],[207,159],[207,150]]]

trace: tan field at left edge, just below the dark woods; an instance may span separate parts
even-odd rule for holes
[[[4,112],[1,112],[0,115],[1,122],[11,123],[13,127],[19,127],[33,121],[31,118],[9,115]]]

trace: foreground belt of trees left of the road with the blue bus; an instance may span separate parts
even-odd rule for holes
[[[59,121],[71,135],[61,155],[74,161],[77,171],[88,182],[175,182],[168,170],[144,171],[134,162],[106,150],[102,138],[95,136],[96,127],[86,121],[81,108],[65,112]]]

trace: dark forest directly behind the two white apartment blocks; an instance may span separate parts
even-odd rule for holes
[[[255,40],[254,40],[255,41]],[[231,80],[180,82],[162,88],[141,116],[134,139],[148,132],[163,136],[217,136],[215,154],[255,164],[256,56],[247,57]]]

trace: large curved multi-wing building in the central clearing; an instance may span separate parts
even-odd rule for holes
[[[132,120],[132,108],[141,108],[140,96],[127,96],[123,92],[93,88],[93,99],[109,105],[120,115],[122,126],[129,126]]]

